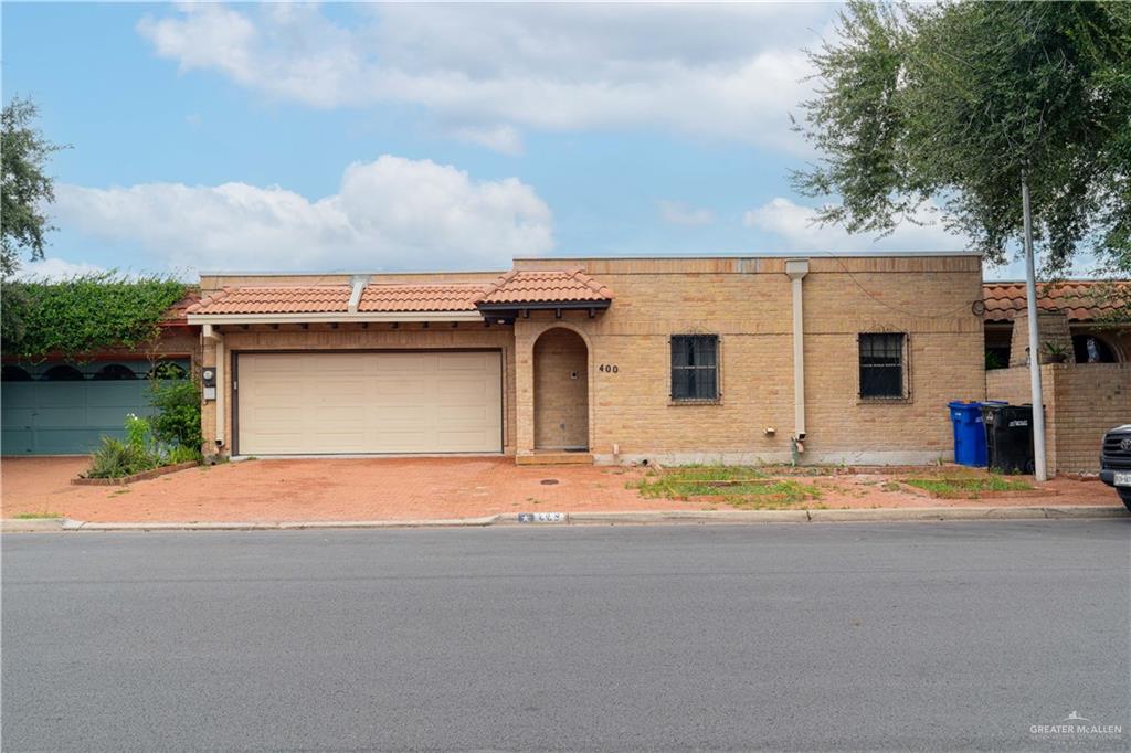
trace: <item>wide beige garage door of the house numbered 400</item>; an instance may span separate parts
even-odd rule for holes
[[[501,452],[498,350],[242,353],[240,455]]]

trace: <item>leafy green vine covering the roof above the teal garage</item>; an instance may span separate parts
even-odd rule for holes
[[[111,347],[140,349],[156,341],[169,308],[188,286],[167,277],[83,275],[63,283],[2,283],[2,348],[24,360],[49,354],[80,360]]]

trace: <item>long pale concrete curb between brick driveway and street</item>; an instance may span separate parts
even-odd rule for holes
[[[656,510],[570,512],[560,522],[524,523],[517,514],[415,520],[310,520],[279,522],[84,522],[69,518],[0,520],[3,533],[149,530],[317,530],[333,528],[483,528],[486,526],[639,526],[649,523],[884,522],[925,520],[1067,520],[1129,518],[1116,505],[1026,505],[986,508],[883,508],[867,510]]]

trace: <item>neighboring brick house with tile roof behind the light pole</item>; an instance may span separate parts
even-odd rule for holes
[[[1110,286],[1117,296],[1103,295]],[[1063,363],[1041,366],[1048,468],[1095,473],[1104,432],[1131,423],[1131,321],[1117,303],[1131,282],[1070,280],[1041,285],[1037,310],[1042,362],[1048,343]],[[1033,401],[1028,369],[1025,285],[985,285],[986,350],[1009,367],[986,371],[986,397],[1013,404]]]

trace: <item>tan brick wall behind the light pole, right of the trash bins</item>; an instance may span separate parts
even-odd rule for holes
[[[1056,473],[1099,470],[1104,432],[1131,423],[1131,364],[1048,364],[1041,367],[1048,468]],[[986,372],[986,397],[1030,401],[1029,370]]]

